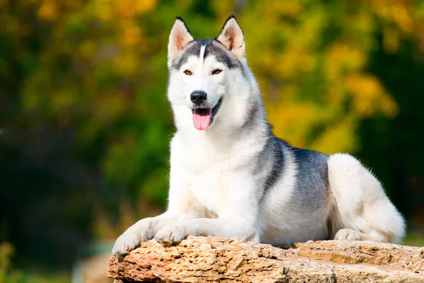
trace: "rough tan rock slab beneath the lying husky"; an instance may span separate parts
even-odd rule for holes
[[[141,243],[108,277],[126,282],[424,282],[424,248],[366,241],[308,241],[276,248],[221,237],[177,246]]]

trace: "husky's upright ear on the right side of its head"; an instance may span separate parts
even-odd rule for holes
[[[235,16],[230,16],[230,18],[225,21],[223,29],[216,39],[227,47],[232,54],[235,54],[235,56],[239,58],[245,57],[245,38],[243,37],[242,28],[240,28],[240,25],[237,23]]]

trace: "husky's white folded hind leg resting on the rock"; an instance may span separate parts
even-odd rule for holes
[[[399,243],[405,233],[404,219],[377,178],[348,154],[330,156],[328,168],[334,201],[331,236],[336,240]]]

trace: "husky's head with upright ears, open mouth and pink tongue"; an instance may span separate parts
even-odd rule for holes
[[[235,17],[225,21],[218,37],[208,40],[196,40],[182,18],[176,18],[168,45],[168,68],[167,96],[177,127],[211,127],[229,96],[245,92],[245,41]]]

